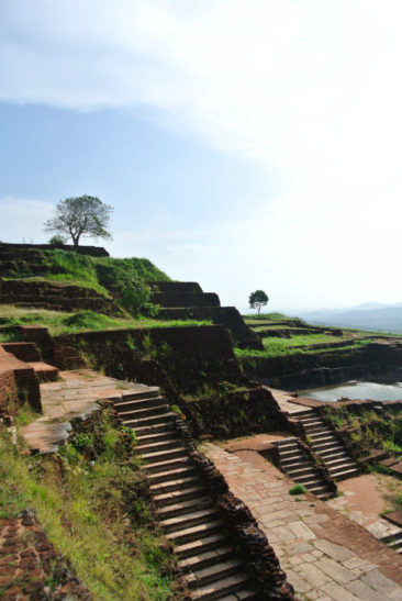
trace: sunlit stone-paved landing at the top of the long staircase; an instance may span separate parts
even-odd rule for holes
[[[90,369],[60,371],[60,380],[41,385],[43,415],[21,429],[30,447],[54,453],[71,431],[71,421],[86,419],[102,399],[118,400],[123,390],[142,390],[144,385],[122,382]]]

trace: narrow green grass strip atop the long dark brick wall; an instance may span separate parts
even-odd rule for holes
[[[120,329],[143,329],[143,327],[190,327],[192,325],[211,325],[209,320],[154,320],[150,318],[110,318],[93,311],[78,311],[77,313],[65,313],[59,311],[46,311],[37,309],[21,309],[12,305],[0,305],[0,316],[4,318],[2,326],[41,324],[48,327],[52,335],[72,334],[78,332]],[[15,340],[18,332],[1,332],[0,342]]]

